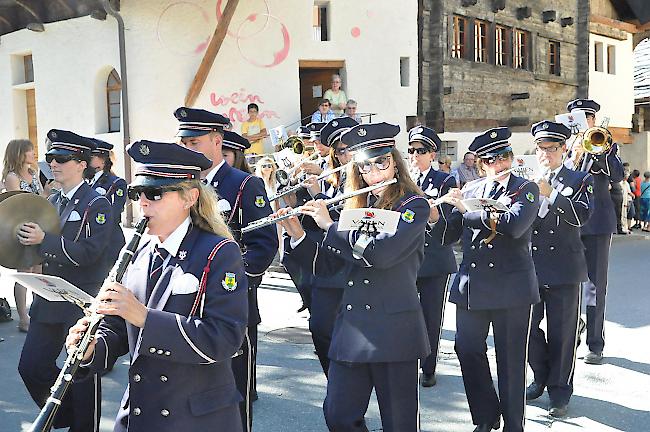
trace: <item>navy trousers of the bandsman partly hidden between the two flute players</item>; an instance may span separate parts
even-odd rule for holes
[[[439,275],[417,279],[420,292],[420,305],[427,325],[431,354],[422,362],[422,372],[435,374],[438,363],[438,348],[442,322],[445,319],[445,304],[447,303],[447,286],[449,275]]]

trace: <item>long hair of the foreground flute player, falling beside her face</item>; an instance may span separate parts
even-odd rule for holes
[[[379,201],[375,205],[375,208],[391,210],[397,201],[407,194],[423,195],[422,190],[417,187],[415,182],[411,180],[411,177],[408,174],[408,169],[406,164],[402,159],[400,152],[393,148],[390,152],[390,155],[393,158],[395,164],[395,178],[397,178],[397,183],[393,183],[390,186],[386,187],[384,193],[381,194]],[[347,179],[345,183],[345,191],[352,192],[359,190],[368,186],[363,180],[361,172],[355,163],[350,164],[347,170]],[[355,197],[349,198],[345,202],[346,209],[353,208],[364,208],[368,206],[368,194],[361,194]]]

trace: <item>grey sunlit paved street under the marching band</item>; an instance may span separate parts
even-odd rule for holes
[[[650,430],[650,238],[616,237],[612,245],[607,308],[605,363],[587,366],[578,360],[575,395],[569,417],[546,416],[545,395],[528,406],[526,430],[646,432]],[[4,271],[3,276],[9,273]],[[0,297],[13,301],[6,278]],[[307,331],[307,313],[297,314],[299,297],[287,275],[267,276],[259,293],[264,320],[258,356],[259,401],[254,405],[255,430],[263,432],[324,431],[321,404],[325,378]],[[453,350],[455,309],[447,305],[441,343],[438,385],[421,389],[423,431],[471,431],[458,360]],[[407,337],[408,335],[405,335]],[[0,432],[27,430],[37,415],[16,371],[24,335],[16,321],[0,324]],[[490,341],[491,342],[491,341]],[[491,345],[492,346],[492,345]],[[582,345],[578,354],[585,352]],[[490,358],[494,365],[494,351]],[[102,431],[112,430],[124,389],[127,366],[118,364],[103,379]],[[368,411],[371,430],[381,430],[373,399]]]

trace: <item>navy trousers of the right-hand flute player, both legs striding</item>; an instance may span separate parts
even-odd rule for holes
[[[530,313],[530,306],[456,309],[455,348],[474,424],[492,424],[503,415],[504,432],[523,432]],[[497,355],[498,396],[487,359],[490,323]]]

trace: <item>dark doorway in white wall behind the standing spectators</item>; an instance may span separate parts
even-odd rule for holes
[[[300,60],[300,117],[306,125],[318,109],[318,102],[330,88],[333,74],[342,75],[345,62],[342,60]],[[345,81],[341,87],[345,91]],[[346,92],[347,94],[347,92]]]

